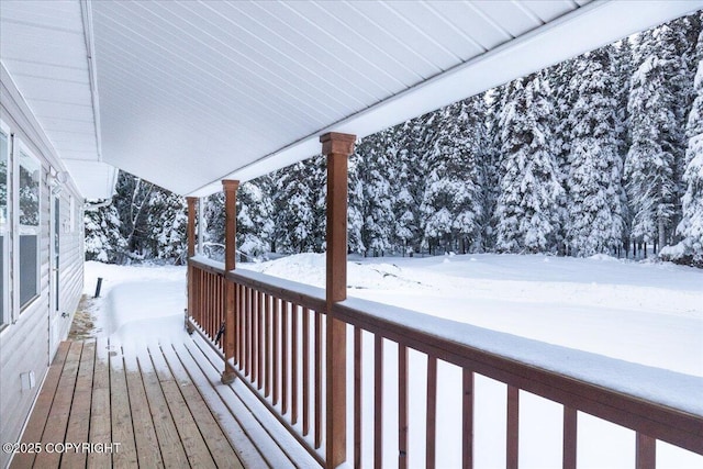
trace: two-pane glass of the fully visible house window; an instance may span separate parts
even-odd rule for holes
[[[21,150],[20,205],[20,311],[40,294],[40,181],[38,159]]]

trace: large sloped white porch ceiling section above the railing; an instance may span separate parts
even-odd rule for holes
[[[91,150],[101,144],[104,161],[191,196],[312,156],[327,131],[368,135],[703,8],[703,0],[67,3],[92,21],[87,63],[97,70],[100,125]],[[3,63],[5,41],[34,46],[24,36],[2,40]],[[60,81],[49,71],[25,75]]]

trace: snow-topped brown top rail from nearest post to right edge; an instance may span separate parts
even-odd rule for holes
[[[692,394],[701,393],[703,378],[431,317],[366,300],[349,299],[336,303],[333,314],[348,324],[450,364],[703,454],[703,412],[700,410],[703,401],[691,395],[690,402],[673,403],[674,407],[652,402],[647,394],[647,390],[657,388],[669,388],[671,393],[681,394],[681,386]],[[496,348],[503,354],[491,351]],[[514,355],[521,359],[504,356],[504,351],[510,349],[518,350]],[[561,366],[562,369],[559,369],[557,356],[560,361],[568,357],[570,368],[563,369]],[[525,357],[533,362],[526,362]],[[623,392],[623,388],[627,392]]]

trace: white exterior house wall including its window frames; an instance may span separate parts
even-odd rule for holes
[[[52,174],[65,170],[13,83],[0,81],[0,121],[9,141],[9,186],[5,236],[9,243],[2,256],[5,277],[3,290],[8,297],[0,324],[0,443],[16,442],[36,400],[38,390],[64,339],[82,291],[82,197],[72,181],[62,185],[52,194]],[[38,222],[38,294],[20,308],[20,224],[18,158],[22,148],[41,164]],[[58,200],[58,220],[53,209]],[[71,201],[72,200],[72,201]],[[71,214],[72,212],[72,214]],[[58,231],[58,309],[55,299],[56,273],[52,269],[55,238],[52,223]],[[62,316],[66,313],[67,316]],[[23,386],[23,375],[34,375],[34,386]],[[0,451],[0,468],[8,466],[10,455]]]

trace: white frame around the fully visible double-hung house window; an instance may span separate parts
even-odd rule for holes
[[[27,158],[33,159],[37,166],[38,166],[38,193],[37,193],[37,198],[38,198],[38,206],[37,206],[37,224],[36,226],[34,225],[23,225],[20,223],[20,189],[21,189],[21,182],[20,182],[20,166],[21,166],[21,159],[22,159],[22,155],[24,155]],[[36,155],[34,154],[34,152],[32,152],[25,144],[24,142],[22,142],[21,138],[19,138],[16,135],[14,136],[13,139],[13,145],[12,145],[12,156],[13,156],[13,163],[12,163],[12,169],[14,171],[13,175],[13,188],[12,188],[12,194],[13,194],[13,222],[14,222],[14,239],[13,239],[13,252],[16,253],[15,256],[13,256],[13,271],[15,272],[13,276],[14,279],[14,302],[16,304],[16,310],[18,311],[18,315],[21,315],[27,308],[30,308],[38,298],[41,298],[42,295],[42,259],[41,259],[41,245],[42,245],[42,196],[43,196],[43,190],[42,190],[42,186],[44,183],[44,168],[42,166],[42,160],[36,157]],[[36,258],[35,258],[35,266],[36,266],[36,278],[35,278],[35,291],[34,293],[27,298],[24,303],[22,303],[22,269],[21,269],[21,257],[22,257],[22,253],[21,253],[21,248],[20,248],[20,244],[21,244],[21,239],[22,236],[36,236]]]

